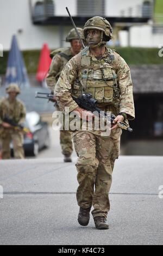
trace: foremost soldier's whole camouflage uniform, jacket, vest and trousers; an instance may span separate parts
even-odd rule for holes
[[[99,22],[103,19],[98,18]],[[99,29],[99,26],[96,28]],[[78,105],[71,96],[78,97],[83,93],[91,93],[98,101],[98,107],[105,111],[115,115],[126,113],[129,120],[135,118],[130,70],[116,51],[106,49],[102,59],[97,59],[89,48],[85,48],[66,64],[55,87],[60,109],[64,111],[65,107],[69,107],[72,112]],[[77,201],[83,209],[93,206],[94,218],[106,218],[110,209],[108,194],[114,163],[120,154],[121,133],[120,127],[112,130],[109,137],[102,137],[101,131],[73,133],[79,156],[76,163],[79,182]]]

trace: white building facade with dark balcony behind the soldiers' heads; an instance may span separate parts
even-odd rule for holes
[[[115,28],[114,44],[156,47],[163,35],[153,37],[153,27],[148,25],[153,4],[153,0],[1,0],[0,44],[9,50],[16,34],[21,50],[40,49],[45,42],[50,48],[67,46],[64,39],[72,28],[67,6],[80,27],[91,16],[106,17]]]

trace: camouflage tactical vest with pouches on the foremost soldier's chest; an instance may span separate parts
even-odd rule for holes
[[[97,64],[91,66],[91,57],[87,56],[89,48],[81,52],[80,70],[78,79],[72,86],[72,95],[79,97],[83,93],[91,93],[99,103],[114,102],[119,97],[117,75],[114,67],[114,51],[108,49],[108,56],[97,60]],[[102,62],[102,63],[100,63]]]

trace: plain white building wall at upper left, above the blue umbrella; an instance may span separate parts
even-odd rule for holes
[[[13,34],[17,35],[21,50],[40,49],[44,42],[47,42],[50,48],[60,46],[58,26],[33,25],[28,0],[0,0],[0,2],[0,44],[3,45],[4,50],[9,50]],[[18,33],[19,29],[22,29],[22,33]],[[64,38],[68,29],[64,28]]]

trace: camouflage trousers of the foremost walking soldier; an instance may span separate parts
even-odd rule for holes
[[[109,191],[114,163],[120,154],[121,133],[120,128],[109,137],[86,131],[74,133],[74,147],[79,157],[77,201],[82,208],[93,206],[93,217],[106,218],[110,210]]]

